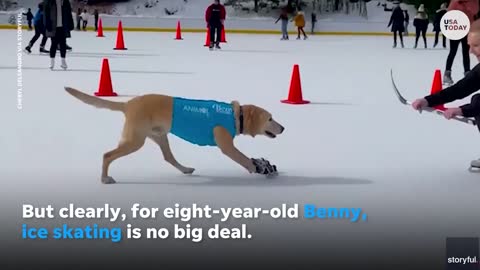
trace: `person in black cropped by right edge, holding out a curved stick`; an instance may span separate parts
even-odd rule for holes
[[[468,34],[468,43],[470,52],[480,61],[480,21],[475,21]],[[465,75],[456,84],[453,84],[442,91],[419,98],[412,103],[415,110],[422,110],[426,107],[435,107],[437,105],[449,103],[455,100],[463,99],[480,89],[480,64],[477,64],[472,71]],[[447,109],[444,113],[446,119],[452,119],[456,116],[473,117],[477,123],[480,123],[480,94],[475,94],[471,102],[459,107]],[[480,167],[480,160],[471,162],[472,167]]]

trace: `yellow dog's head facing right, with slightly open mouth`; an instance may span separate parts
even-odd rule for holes
[[[239,107],[237,107],[236,112],[239,111]],[[244,134],[248,134],[252,137],[255,137],[256,135],[265,135],[269,138],[275,138],[285,130],[280,123],[273,119],[270,112],[261,107],[255,105],[243,105],[242,111]]]

